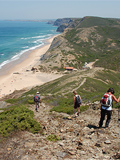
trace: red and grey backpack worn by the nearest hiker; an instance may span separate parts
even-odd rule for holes
[[[104,107],[110,107],[112,105],[111,95],[105,93],[104,96],[101,98],[100,103]]]

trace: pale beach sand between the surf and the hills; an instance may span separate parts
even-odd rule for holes
[[[54,36],[55,37],[55,36]],[[54,37],[47,40],[47,44],[41,48],[31,51],[27,58],[25,55],[16,62],[8,64],[7,68],[3,68],[0,75],[0,98],[9,95],[15,90],[29,89],[37,85],[42,85],[61,77],[60,74],[48,74],[43,72],[31,71],[31,68],[40,63],[40,57],[49,49]]]

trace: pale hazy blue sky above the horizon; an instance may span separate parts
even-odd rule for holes
[[[0,0],[0,20],[120,18],[120,0]]]

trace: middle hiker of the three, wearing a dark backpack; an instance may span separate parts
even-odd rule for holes
[[[73,91],[73,94],[74,94],[74,98],[73,98],[74,114],[75,114],[75,117],[77,117],[80,113],[80,105],[82,104],[82,100],[80,95],[77,95],[76,91]],[[76,110],[78,112],[76,112]]]

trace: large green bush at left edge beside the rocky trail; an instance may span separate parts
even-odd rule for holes
[[[22,106],[13,106],[0,114],[0,134],[7,137],[16,130],[27,130],[38,133],[41,129],[40,124],[33,119],[33,111]]]

